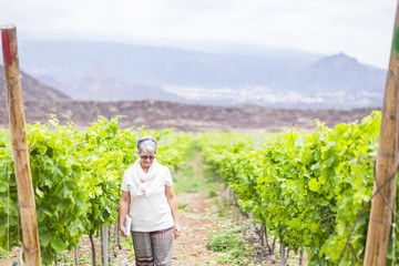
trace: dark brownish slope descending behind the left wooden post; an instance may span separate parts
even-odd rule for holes
[[[50,88],[24,72],[21,72],[22,96],[24,101],[62,101],[70,99],[64,93]],[[6,100],[4,70],[0,65],[0,101]]]

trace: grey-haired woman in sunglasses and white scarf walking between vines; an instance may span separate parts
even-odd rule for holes
[[[122,180],[120,227],[132,232],[136,265],[172,265],[173,236],[181,229],[170,170],[156,162],[156,139],[137,140],[137,156]],[[124,227],[127,215],[131,228]]]

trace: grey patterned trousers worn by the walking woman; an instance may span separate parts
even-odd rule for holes
[[[132,232],[137,266],[171,266],[173,227],[156,232]]]

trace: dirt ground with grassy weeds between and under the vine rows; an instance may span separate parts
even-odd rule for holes
[[[192,174],[192,176],[188,176],[190,178],[196,178],[197,182],[205,182],[203,176],[203,161],[200,154],[196,154],[193,160],[188,162],[187,166],[192,171],[188,173]],[[182,174],[187,175],[187,173],[177,172],[177,178],[182,176]],[[185,178],[187,176],[185,176]],[[194,182],[191,185],[196,186],[198,183]],[[174,242],[173,265],[237,265],[236,263],[223,264],[218,262],[217,254],[212,253],[206,247],[209,235],[228,231],[232,228],[232,225],[246,227],[244,224],[248,224],[235,205],[232,203],[224,205],[224,201],[228,201],[228,194],[223,185],[218,184],[214,190],[216,194],[213,196],[209,195],[209,191],[203,188],[194,193],[177,194],[177,202],[180,206],[183,206],[180,208],[182,234],[180,238]],[[224,215],[221,215],[221,207],[223,207],[222,212]],[[101,246],[99,238],[95,238],[95,249],[98,265],[101,265]],[[110,265],[134,265],[131,239],[124,238],[122,242],[124,243],[122,249],[116,248],[117,256],[113,257],[112,254],[110,254]],[[16,248],[6,258],[0,257],[0,266],[12,265],[12,262],[18,260],[18,254],[19,248]],[[78,256],[79,265],[92,265],[91,244],[88,236],[82,238],[79,245]],[[250,260],[253,262],[244,265],[279,265],[278,262],[274,262],[273,264],[269,258],[262,263],[256,262],[257,259]],[[74,265],[73,253],[64,253],[60,256],[58,265]]]

